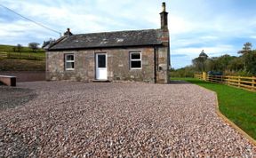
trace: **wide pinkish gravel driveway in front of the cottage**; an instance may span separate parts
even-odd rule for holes
[[[32,82],[18,88],[35,94],[13,108],[12,93],[5,101],[12,108],[0,109],[0,157],[256,156],[256,147],[216,115],[214,93],[193,84]]]

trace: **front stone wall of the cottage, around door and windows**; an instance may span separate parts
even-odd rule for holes
[[[130,69],[130,51],[141,51],[142,68]],[[91,82],[95,80],[95,53],[108,54],[109,81],[155,83],[154,48],[118,48],[81,51],[47,51],[46,79]],[[65,54],[75,55],[75,69],[65,70]],[[166,53],[166,52],[165,52]]]

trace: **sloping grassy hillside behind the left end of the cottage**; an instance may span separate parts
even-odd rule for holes
[[[0,45],[0,71],[44,71],[45,51],[28,47],[13,51],[12,45]]]

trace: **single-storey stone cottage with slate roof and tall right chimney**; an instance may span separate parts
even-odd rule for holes
[[[46,51],[46,79],[168,83],[170,38],[165,3],[161,28],[64,36]]]

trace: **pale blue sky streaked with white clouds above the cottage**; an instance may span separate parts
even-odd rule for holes
[[[171,36],[171,64],[191,65],[209,57],[237,56],[246,42],[256,44],[255,0],[0,0],[0,4],[56,32],[73,34],[160,28],[166,3]],[[0,44],[43,43],[60,37],[0,5]]]

